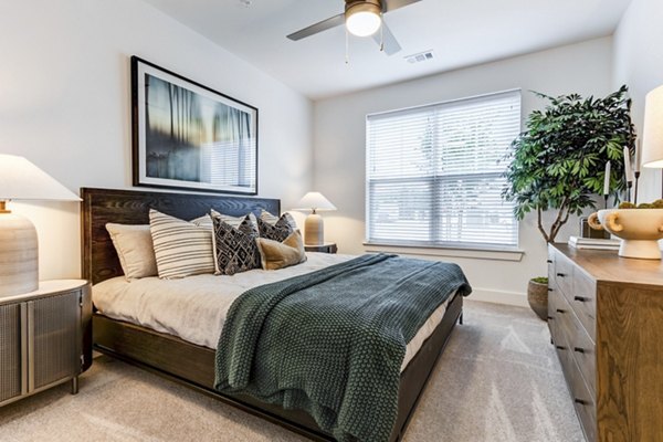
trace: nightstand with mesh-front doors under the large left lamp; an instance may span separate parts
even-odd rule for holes
[[[39,290],[0,297],[0,406],[71,381],[92,365],[87,281],[42,281]]]

